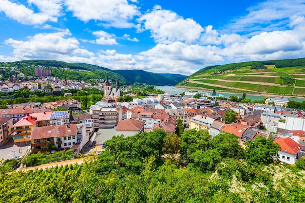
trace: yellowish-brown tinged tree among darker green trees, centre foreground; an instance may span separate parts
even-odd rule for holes
[[[164,137],[164,147],[162,148],[164,153],[172,155],[175,158],[175,155],[180,152],[181,140],[177,134],[168,134]]]

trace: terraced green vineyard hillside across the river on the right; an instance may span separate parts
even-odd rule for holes
[[[209,66],[177,86],[224,92],[305,95],[305,58]]]

